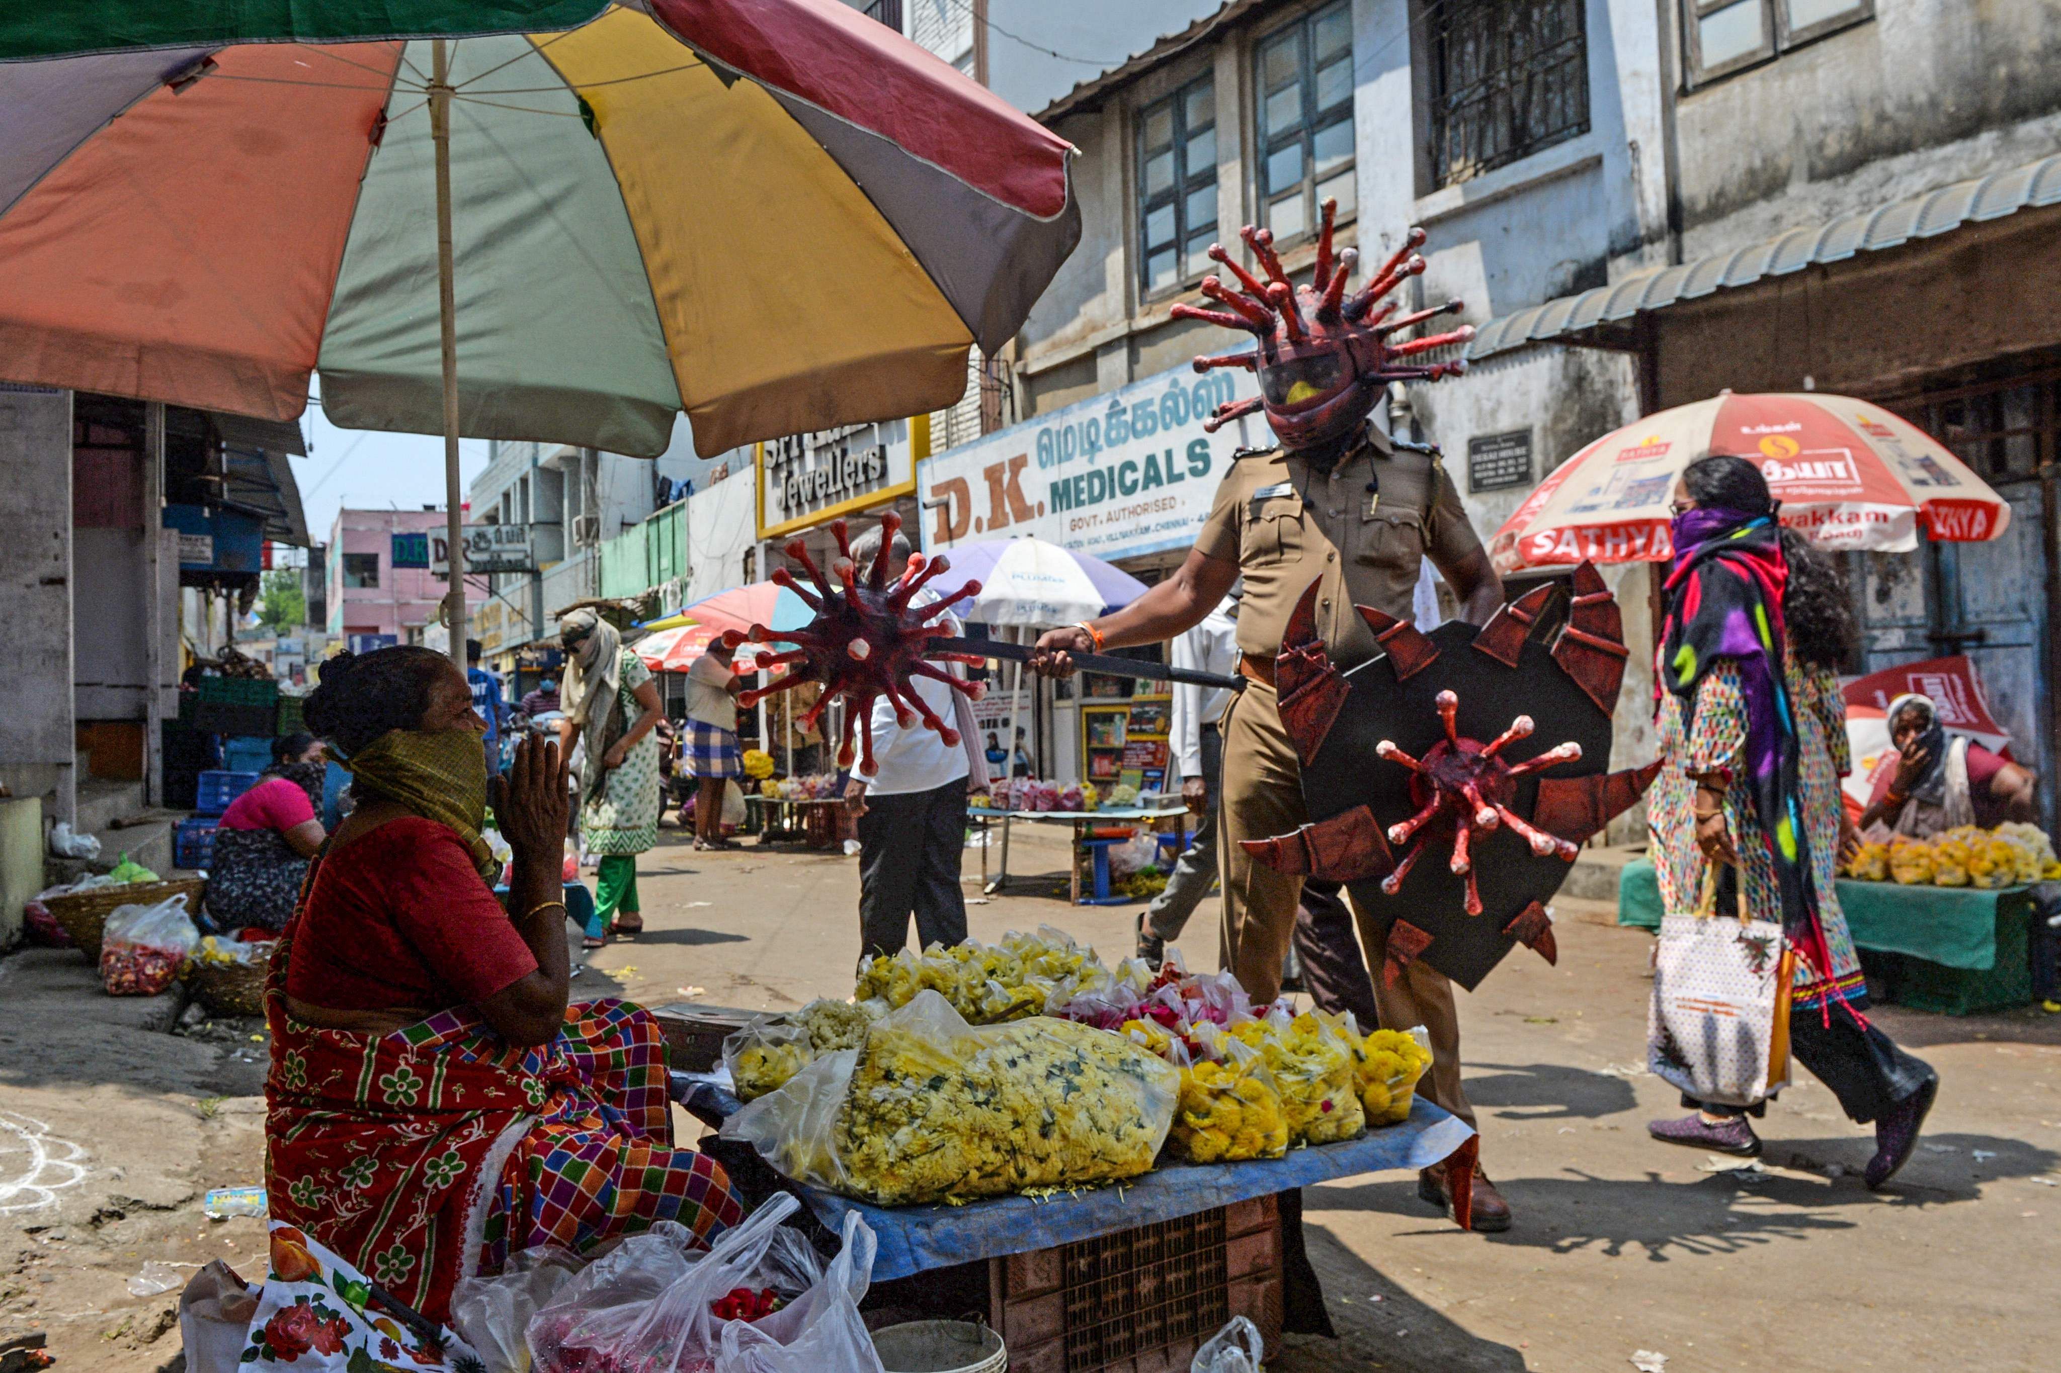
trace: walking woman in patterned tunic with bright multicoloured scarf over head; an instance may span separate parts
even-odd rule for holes
[[[1840,1107],[1876,1122],[1865,1182],[1880,1188],[1917,1147],[1939,1089],[1863,1015],[1861,976],[1834,877],[1857,836],[1838,778],[1851,770],[1838,663],[1853,646],[1847,587],[1781,531],[1768,484],[1746,459],[1690,463],[1678,488],[1661,638],[1661,776],[1647,805],[1665,910],[1694,910],[1709,865],[1717,908],[1737,885],[1756,920],[1779,920],[1797,953],[1789,1044]],[[1768,817],[1775,817],[1768,823]],[[1653,1138],[1758,1155],[1754,1107],[1707,1105],[1655,1120]]]

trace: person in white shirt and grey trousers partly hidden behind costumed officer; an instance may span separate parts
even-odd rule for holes
[[[1204,615],[1202,624],[1173,640],[1173,665],[1204,673],[1235,677],[1239,671],[1239,597],[1243,583],[1232,583],[1222,605]],[[1158,967],[1167,941],[1179,939],[1195,906],[1216,881],[1216,797],[1224,741],[1216,729],[1230,700],[1228,688],[1204,688],[1177,681],[1173,685],[1173,723],[1169,745],[1173,768],[1181,778],[1181,801],[1202,817],[1195,842],[1181,852],[1167,889],[1138,916],[1138,957]]]

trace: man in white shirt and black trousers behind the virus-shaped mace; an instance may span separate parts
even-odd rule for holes
[[[851,560],[870,568],[880,550],[880,529],[868,529],[851,543]],[[894,535],[888,545],[888,578],[909,566],[909,539]],[[919,591],[915,605],[936,599]],[[944,615],[938,624],[952,634],[958,620]],[[956,663],[946,669],[965,675]],[[917,677],[911,688],[923,704],[958,729],[958,743],[946,743],[938,731],[913,718],[907,727],[894,718],[894,706],[880,696],[872,720],[859,729],[872,731],[872,778],[853,770],[845,782],[845,805],[857,817],[859,830],[859,943],[861,957],[897,953],[909,943],[909,918],[915,916],[917,947],[934,943],[956,945],[967,939],[967,895],[958,887],[958,862],[967,844],[969,778],[987,784],[987,760],[973,729],[973,710],[960,708],[960,694],[942,681]]]

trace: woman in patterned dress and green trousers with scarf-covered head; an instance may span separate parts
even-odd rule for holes
[[[559,620],[565,646],[565,718],[559,741],[583,745],[579,836],[600,856],[587,949],[608,935],[641,935],[637,854],[657,844],[657,737],[664,714],[651,669],[622,646],[616,626],[592,607]]]

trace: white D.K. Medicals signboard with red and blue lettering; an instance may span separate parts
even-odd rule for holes
[[[1187,548],[1230,455],[1274,443],[1261,416],[1202,430],[1253,395],[1251,373],[1181,366],[925,459],[923,548],[1026,533],[1105,560]]]

